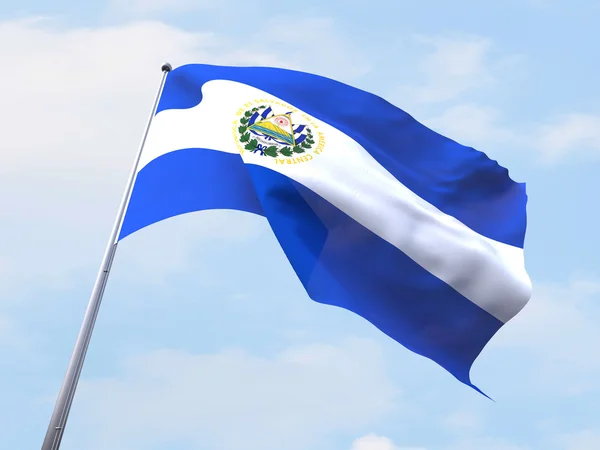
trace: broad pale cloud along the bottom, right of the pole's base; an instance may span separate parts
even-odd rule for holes
[[[161,350],[82,381],[64,448],[303,449],[376,423],[397,396],[371,341],[290,347],[273,358]]]

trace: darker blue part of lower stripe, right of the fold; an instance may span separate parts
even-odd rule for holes
[[[249,170],[313,300],[362,316],[472,386],[471,365],[502,322],[311,190],[261,166]]]

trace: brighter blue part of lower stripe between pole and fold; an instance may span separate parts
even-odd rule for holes
[[[240,155],[200,149],[167,153],[138,173],[119,239],[163,219],[206,209],[264,215]]]

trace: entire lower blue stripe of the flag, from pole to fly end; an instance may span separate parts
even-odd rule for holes
[[[266,216],[313,300],[364,317],[472,386],[471,365],[500,321],[314,192],[243,166],[239,155],[186,149],[152,161],[137,177],[121,238],[202,209]]]

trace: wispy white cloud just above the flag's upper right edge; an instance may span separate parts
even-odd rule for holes
[[[492,55],[490,39],[478,36],[418,37],[433,51],[417,66],[422,73],[418,85],[400,89],[403,105],[427,127],[485,152],[501,164],[509,164],[528,143],[518,128],[505,123],[501,111],[471,100],[472,93],[494,86],[514,68],[518,55]],[[436,108],[433,103],[446,104]],[[406,106],[405,106],[406,107]]]

